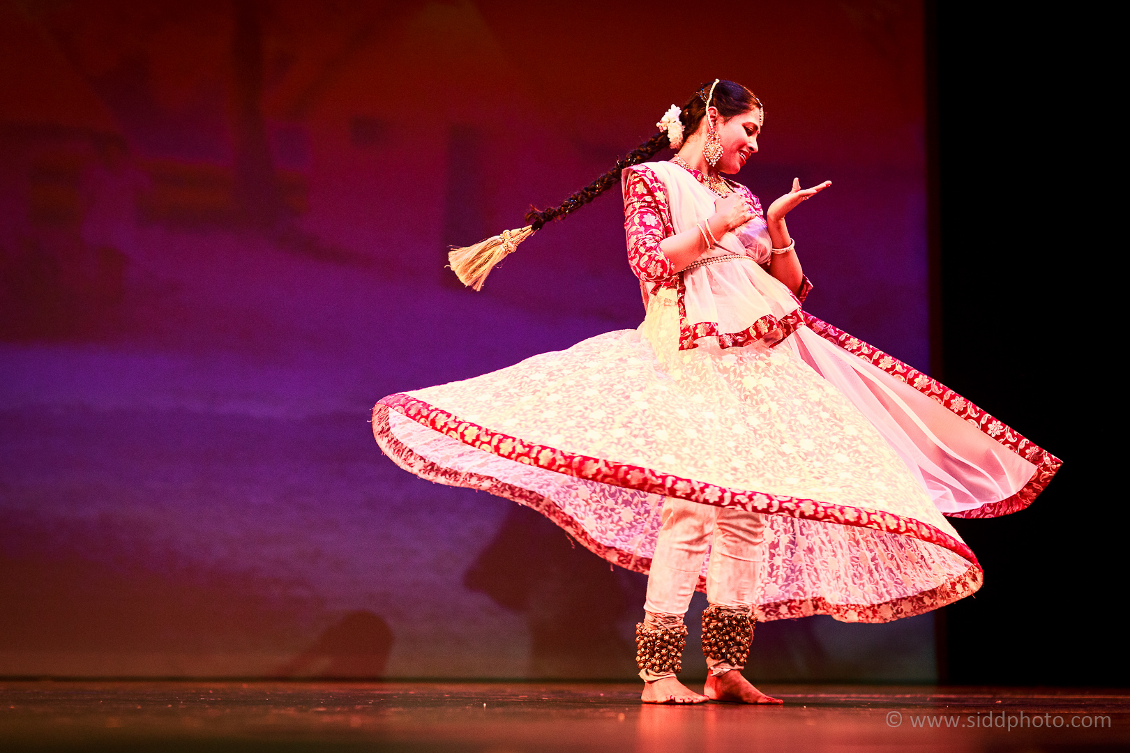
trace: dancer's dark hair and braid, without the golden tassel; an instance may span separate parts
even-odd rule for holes
[[[705,84],[702,88],[695,91],[687,104],[683,105],[683,110],[679,112],[679,121],[683,123],[683,133],[685,137],[689,137],[698,129],[698,124],[702,123],[703,115],[706,114],[706,97],[710,94],[711,84]],[[718,86],[714,87],[714,96],[710,104],[711,106],[718,108],[719,115],[723,120],[729,120],[734,115],[740,115],[741,113],[753,110],[754,107],[762,106],[760,99],[755,97],[753,91],[740,84],[736,84],[734,81],[719,81]],[[530,224],[533,230],[540,230],[541,226],[546,222],[564,219],[570,212],[580,209],[611,186],[619,183],[620,173],[624,172],[625,167],[631,167],[646,161],[649,158],[659,154],[661,149],[669,146],[671,146],[671,142],[667,137],[667,131],[660,131],[629,151],[627,156],[617,159],[612,169],[608,170],[556,207],[541,210],[531,207],[530,211],[525,213],[525,221]]]

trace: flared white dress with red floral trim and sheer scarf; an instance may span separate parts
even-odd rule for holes
[[[976,590],[981,567],[945,516],[1022,509],[1060,461],[806,314],[763,269],[765,221],[739,184],[755,219],[672,273],[659,240],[714,211],[697,177],[625,170],[638,329],[389,395],[373,411],[381,448],[421,478],[532,507],[640,572],[666,497],[766,513],[759,620],[886,622]]]

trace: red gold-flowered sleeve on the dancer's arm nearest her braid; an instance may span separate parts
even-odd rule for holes
[[[663,282],[675,275],[673,264],[659,242],[673,234],[663,182],[646,167],[627,170],[624,181],[624,233],[628,263],[644,282]]]

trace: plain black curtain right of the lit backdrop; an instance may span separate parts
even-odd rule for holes
[[[1064,461],[1027,510],[954,520],[985,570],[939,614],[955,684],[1127,684],[1123,377],[1097,345],[1121,262],[1085,175],[1115,147],[1095,142],[1090,24],[1070,14],[928,5],[935,368]]]

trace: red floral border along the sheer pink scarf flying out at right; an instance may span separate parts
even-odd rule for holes
[[[1032,440],[1026,439],[1020,432],[1005,422],[994,419],[988,412],[977,408],[965,397],[962,397],[933,377],[919,371],[912,366],[907,366],[894,356],[888,356],[878,348],[863,342],[859,338],[853,338],[843,330],[823,322],[811,314],[805,314],[805,323],[825,340],[834,342],[847,352],[878,366],[896,379],[905,382],[923,395],[949,409],[955,415],[965,419],[999,444],[1036,465],[1036,470],[1032,474],[1032,478],[1028,479],[1028,482],[1011,497],[982,505],[972,510],[947,513],[948,517],[992,518],[1023,510],[1040,496],[1040,492],[1048,487],[1052,476],[1063,465],[1063,461],[1041,448]]]

